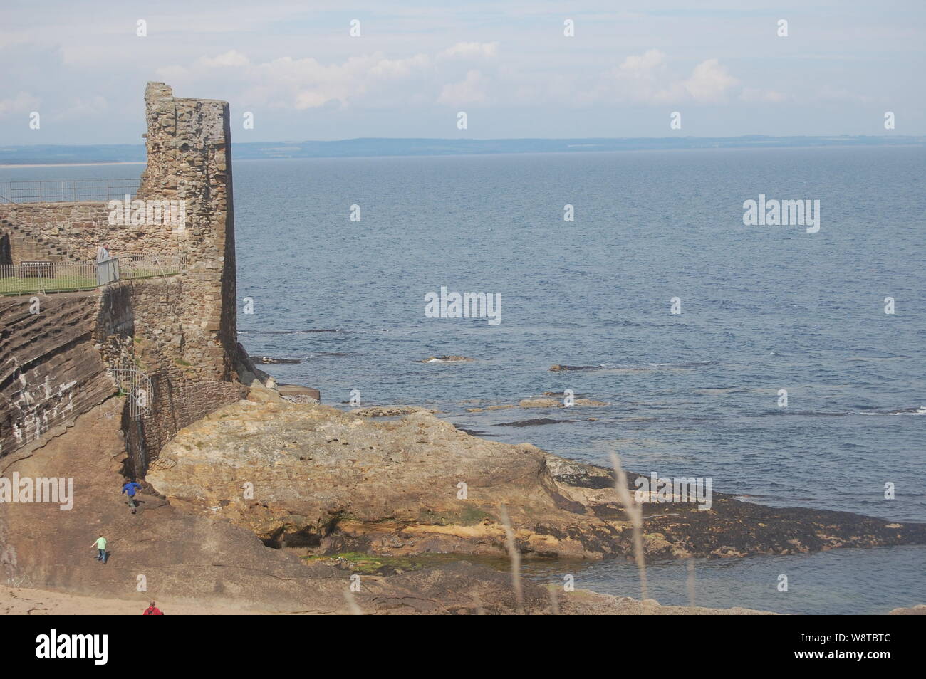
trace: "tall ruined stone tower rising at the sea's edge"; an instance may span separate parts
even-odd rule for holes
[[[181,360],[201,377],[233,377],[237,355],[229,105],[174,97],[163,82],[144,93],[148,165],[137,198],[185,200],[177,247],[186,261],[179,305]]]

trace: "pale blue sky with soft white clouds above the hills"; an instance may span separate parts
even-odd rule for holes
[[[141,143],[148,80],[235,142],[922,135],[924,54],[923,0],[0,0],[0,144]]]

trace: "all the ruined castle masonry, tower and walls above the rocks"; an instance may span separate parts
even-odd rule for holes
[[[114,396],[107,368],[138,370],[154,390],[141,417],[128,416],[128,403],[123,415],[127,471],[135,475],[183,426],[246,393],[236,381],[247,358],[237,344],[229,105],[175,98],[151,82],[145,106],[148,165],[136,199],[186,201],[184,228],[111,226],[100,203],[6,205],[0,218],[12,223],[19,258],[85,261],[108,241],[116,255],[182,253],[186,270],[95,291],[0,298],[0,457],[28,454]],[[30,311],[33,299],[39,314]]]

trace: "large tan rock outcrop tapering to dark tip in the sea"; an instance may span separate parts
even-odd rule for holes
[[[172,504],[246,526],[268,545],[503,555],[505,506],[525,554],[632,553],[610,471],[529,443],[473,438],[432,414],[377,421],[320,405],[240,401],[181,431],[162,459],[148,480]],[[708,511],[679,502],[643,508],[649,559],[926,542],[926,525],[776,509],[716,492]]]

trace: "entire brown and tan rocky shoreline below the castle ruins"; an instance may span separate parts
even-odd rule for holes
[[[345,413],[292,402],[257,379],[247,400],[181,429],[151,461],[131,514],[119,496],[122,400],[78,416],[37,454],[5,461],[5,475],[74,476],[79,501],[70,512],[5,507],[0,568],[11,587],[0,591],[0,610],[132,612],[155,598],[214,614],[761,612],[660,606],[529,579],[519,601],[497,565],[508,559],[501,510],[525,559],[569,569],[629,559],[630,522],[610,470],[474,438],[426,409]],[[926,541],[922,525],[721,493],[707,512],[660,507],[644,507],[650,561]],[[112,546],[105,566],[88,548],[102,531]],[[355,578],[359,591],[348,597]]]

